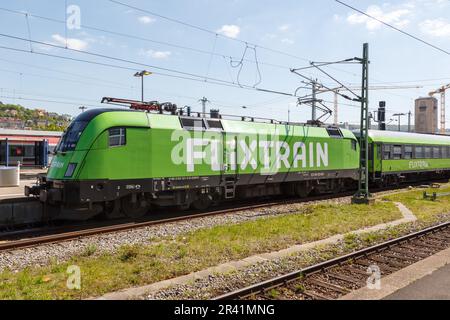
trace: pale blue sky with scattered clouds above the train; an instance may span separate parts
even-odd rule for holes
[[[344,2],[450,51],[450,0]],[[386,101],[388,119],[450,83],[450,55],[334,0],[1,0],[0,30],[0,101],[74,116],[102,97],[140,100],[133,75],[148,70],[147,101],[201,111],[207,97],[222,114],[304,122],[311,108],[273,91],[310,94],[291,69],[361,57],[365,42],[370,85],[384,88],[370,91],[370,109]],[[360,64],[323,70],[361,85]],[[302,73],[339,86],[317,69]],[[332,94],[320,99],[333,109]],[[358,123],[359,108],[339,98],[339,122]]]

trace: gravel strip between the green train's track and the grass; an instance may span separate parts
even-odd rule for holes
[[[111,234],[83,237],[61,243],[44,244],[32,248],[0,252],[0,272],[5,269],[20,271],[30,266],[45,266],[51,262],[64,262],[71,257],[81,255],[92,248],[95,248],[95,255],[98,255],[105,252],[114,252],[124,245],[150,244],[161,238],[175,237],[186,232],[192,232],[203,228],[237,224],[273,216],[297,214],[301,208],[312,204],[348,204],[350,201],[350,197],[342,197],[331,200],[277,205],[269,208],[251,209],[218,216],[194,218]]]

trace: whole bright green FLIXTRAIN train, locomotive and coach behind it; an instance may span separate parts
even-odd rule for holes
[[[194,117],[173,106],[167,114],[161,105],[131,105],[135,110],[94,109],[78,116],[47,176],[25,193],[57,208],[58,218],[88,219],[357,186],[360,149],[349,130]],[[370,131],[369,143],[373,185],[450,172],[450,137]]]

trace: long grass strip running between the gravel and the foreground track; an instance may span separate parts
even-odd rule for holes
[[[0,299],[78,299],[401,218],[393,203],[305,206],[299,214],[201,229],[116,253],[90,247],[71,261],[0,273]],[[95,253],[95,254],[94,254]],[[66,288],[67,267],[81,268],[81,291]]]

